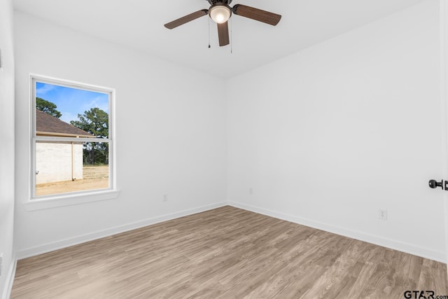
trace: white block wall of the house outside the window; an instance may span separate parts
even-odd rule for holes
[[[83,179],[83,144],[38,142],[36,172],[36,184]]]

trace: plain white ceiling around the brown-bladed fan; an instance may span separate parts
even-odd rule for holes
[[[231,78],[423,0],[234,0],[282,15],[271,26],[232,15],[231,46],[218,46],[204,16],[175,29],[163,25],[209,8],[206,0],[13,0],[16,10],[164,60]],[[231,53],[232,48],[232,53]]]

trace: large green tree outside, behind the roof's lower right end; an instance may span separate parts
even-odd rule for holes
[[[95,135],[97,138],[109,137],[109,114],[99,108],[91,108],[78,114],[78,120],[71,120],[71,125]],[[108,142],[86,142],[84,145],[84,163],[109,164]]]

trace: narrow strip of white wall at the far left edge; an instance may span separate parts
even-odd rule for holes
[[[0,71],[0,298],[12,284],[14,227],[14,52],[13,5],[0,0],[0,49],[3,71]]]

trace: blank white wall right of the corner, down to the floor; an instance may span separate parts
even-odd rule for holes
[[[428,188],[442,179],[438,20],[424,1],[232,78],[231,204],[444,261],[443,193]]]

